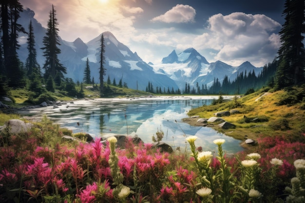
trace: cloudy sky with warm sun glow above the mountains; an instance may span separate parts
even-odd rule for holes
[[[256,67],[281,46],[285,0],[19,0],[47,27],[52,4],[59,36],[85,43],[105,31],[145,62],[161,63],[173,50],[196,49],[208,62]]]

